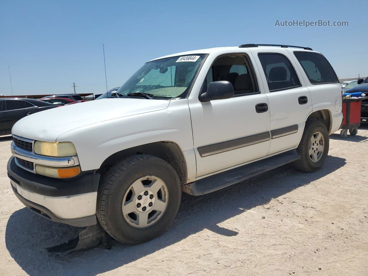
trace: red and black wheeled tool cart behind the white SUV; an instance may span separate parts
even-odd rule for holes
[[[343,99],[344,120],[340,131],[341,137],[347,138],[347,130],[349,130],[350,135],[357,135],[360,126],[361,103],[365,99],[368,97]]]

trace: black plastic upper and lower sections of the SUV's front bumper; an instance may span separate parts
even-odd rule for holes
[[[70,180],[40,176],[39,174],[33,174],[18,167],[14,162],[14,157],[9,159],[7,170],[8,177],[22,188],[49,197],[65,197],[96,192],[100,180],[100,174],[94,173],[94,171],[82,172],[77,178],[74,177]],[[13,188],[14,194],[26,207],[47,219],[79,227],[96,224],[95,215],[78,219],[60,219],[44,206],[22,197],[13,185],[11,187]]]

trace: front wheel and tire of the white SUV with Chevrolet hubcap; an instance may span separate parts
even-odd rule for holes
[[[111,167],[103,177],[96,215],[114,239],[138,244],[170,226],[180,200],[180,180],[169,163],[151,155],[134,155]]]

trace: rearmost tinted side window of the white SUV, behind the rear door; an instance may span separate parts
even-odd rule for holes
[[[324,56],[311,52],[294,52],[312,84],[335,83],[337,77]]]

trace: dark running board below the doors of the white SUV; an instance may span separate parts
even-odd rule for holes
[[[185,184],[183,185],[182,190],[190,195],[208,194],[210,192],[229,187],[248,178],[258,176],[266,171],[276,169],[277,167],[281,167],[287,163],[298,160],[299,158],[300,156],[296,149],[293,149],[291,151],[283,152],[272,157]]]

